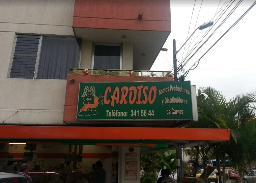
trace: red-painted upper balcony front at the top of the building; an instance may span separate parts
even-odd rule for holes
[[[171,31],[170,0],[76,0],[73,27]]]

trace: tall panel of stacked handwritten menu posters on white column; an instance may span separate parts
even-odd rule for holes
[[[125,153],[125,180],[137,180],[137,153]]]

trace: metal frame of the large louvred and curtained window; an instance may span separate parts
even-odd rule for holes
[[[38,52],[37,52],[37,58],[36,58],[36,63],[35,63],[35,71],[34,71],[34,76],[33,79],[37,79],[37,72],[38,72],[38,66],[39,66],[39,59],[40,59],[40,53],[41,53],[41,46],[42,46],[42,38],[45,37],[60,37],[60,38],[76,38],[76,39],[80,39],[80,45],[79,45],[79,53],[78,53],[78,63],[77,63],[77,67],[80,68],[80,64],[81,64],[81,46],[82,46],[82,39],[81,37],[75,37],[75,36],[52,36],[52,35],[47,35],[47,34],[27,34],[27,33],[16,33],[15,34],[15,39],[13,41],[13,46],[12,46],[12,52],[11,52],[11,58],[10,58],[10,64],[9,64],[9,68],[8,68],[8,75],[7,78],[11,78],[10,74],[11,74],[11,65],[12,65],[12,60],[13,60],[13,54],[14,54],[14,50],[16,47],[16,42],[17,42],[17,37],[18,35],[33,35],[33,36],[40,36],[39,39],[39,44],[38,44]],[[28,78],[11,78],[11,79],[28,79]],[[52,79],[49,79],[52,80]],[[65,79],[59,79],[59,80],[65,80]]]

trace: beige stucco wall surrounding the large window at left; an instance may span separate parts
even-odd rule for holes
[[[16,33],[74,36],[74,3],[75,0],[0,0],[1,122],[62,123],[66,80],[7,77]]]

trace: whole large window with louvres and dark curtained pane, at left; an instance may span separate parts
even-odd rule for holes
[[[79,64],[80,39],[17,34],[10,78],[66,79]]]

